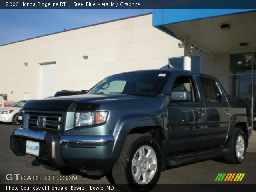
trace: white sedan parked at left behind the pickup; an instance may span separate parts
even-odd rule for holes
[[[12,122],[14,125],[20,124],[18,122],[18,112],[26,103],[25,100],[18,101],[10,107],[0,108],[0,122]]]

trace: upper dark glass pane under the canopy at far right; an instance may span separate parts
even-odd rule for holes
[[[254,72],[256,72],[255,62]],[[230,74],[250,73],[252,73],[252,53],[239,53],[230,55]]]

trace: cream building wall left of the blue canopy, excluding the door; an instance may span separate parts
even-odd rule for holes
[[[168,58],[183,56],[178,42],[154,28],[149,14],[0,46],[0,94],[38,99],[44,62],[56,61],[55,92],[88,90],[120,72],[164,68]]]

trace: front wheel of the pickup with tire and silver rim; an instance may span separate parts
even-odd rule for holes
[[[120,190],[148,191],[157,183],[161,167],[158,142],[146,134],[130,134],[112,168],[112,176]]]

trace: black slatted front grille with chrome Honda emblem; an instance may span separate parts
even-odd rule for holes
[[[29,114],[28,128],[60,130],[61,114]]]

